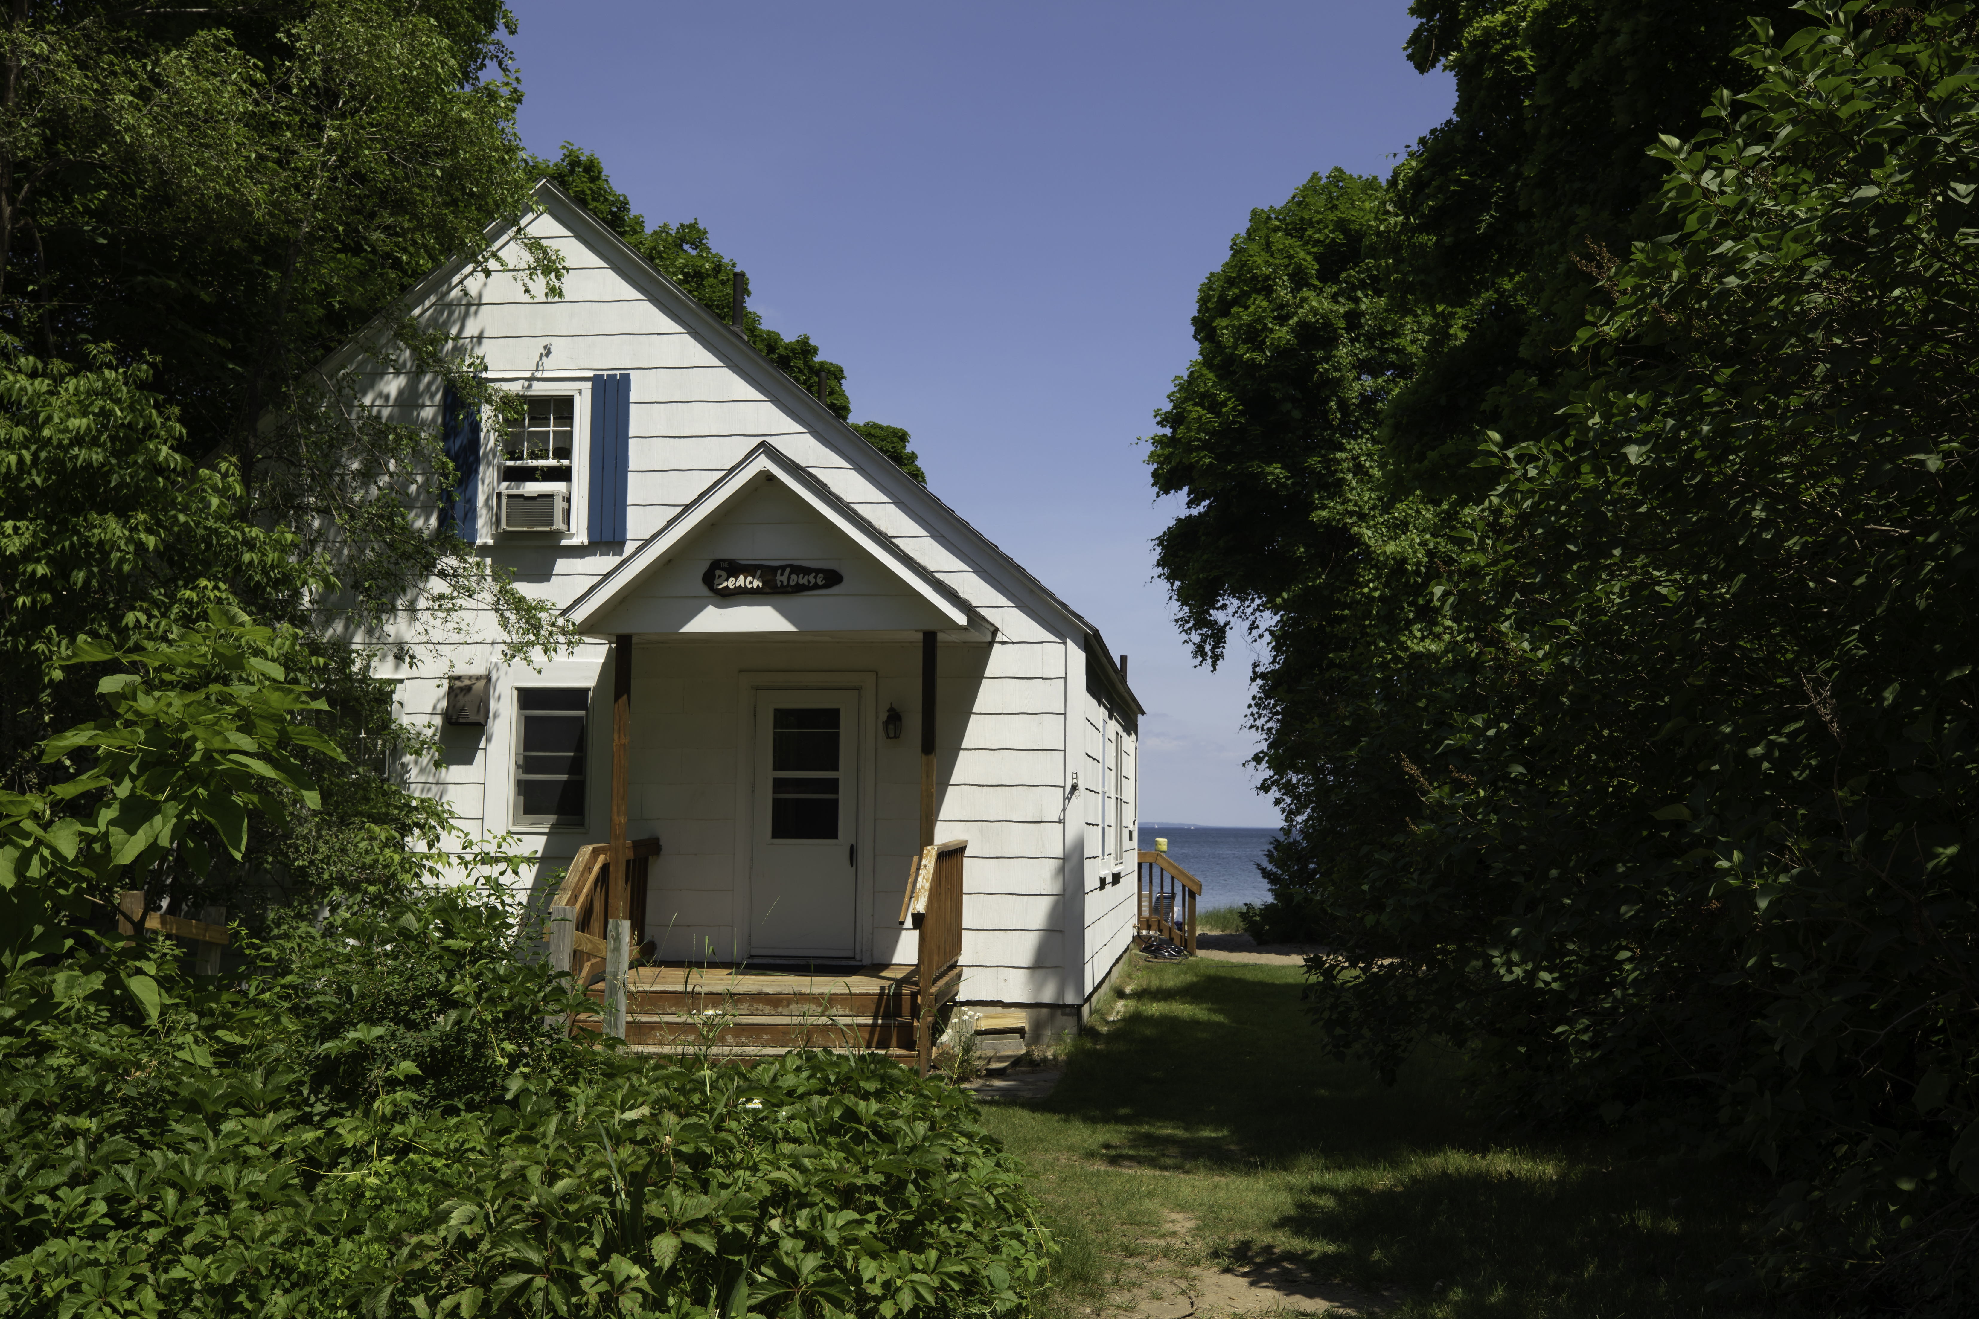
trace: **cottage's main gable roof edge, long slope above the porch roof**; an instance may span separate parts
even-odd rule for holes
[[[800,386],[796,380],[786,376],[770,358],[766,358],[754,344],[750,344],[742,334],[734,330],[726,320],[720,320],[714,312],[701,305],[695,295],[691,295],[681,285],[673,283],[657,265],[639,255],[623,237],[608,229],[596,216],[592,216],[580,202],[576,202],[568,192],[558,188],[548,178],[536,182],[534,188],[536,208],[552,216],[564,229],[582,241],[586,247],[604,257],[627,283],[641,289],[647,297],[659,303],[673,318],[677,318],[687,328],[701,334],[703,342],[720,356],[732,370],[742,374],[750,384],[754,384],[762,394],[782,405],[792,417],[801,419],[811,435],[831,447],[847,465],[859,469],[873,484],[887,494],[889,500],[900,504],[902,508],[916,514],[924,526],[930,530],[938,528],[946,538],[946,548],[964,564],[968,564],[978,573],[999,581],[1005,589],[1011,589],[1013,597],[1029,597],[1033,607],[1045,615],[1057,615],[1065,625],[1065,631],[1077,633],[1090,645],[1084,647],[1088,655],[1096,651],[1100,666],[1108,686],[1114,686],[1120,696],[1124,696],[1136,712],[1146,714],[1140,700],[1134,696],[1132,688],[1126,684],[1126,676],[1114,662],[1106,643],[1098,629],[1079,615],[1071,605],[1059,599],[1043,581],[1031,575],[1017,560],[1005,554],[993,540],[976,530],[968,518],[958,514],[946,502],[940,500],[924,484],[902,473],[893,461],[867,443],[865,435],[855,431],[849,423],[841,421],[837,413],[825,407],[809,390]],[[528,227],[530,216],[501,218],[493,221],[483,231],[483,241],[487,251],[499,251],[499,247],[517,237]],[[360,334],[356,334],[350,344],[332,354],[325,364],[325,374],[334,374],[344,370],[350,360],[364,350],[366,340],[378,336],[384,330],[394,312],[414,310],[431,303],[443,291],[457,285],[469,273],[485,269],[485,259],[475,255],[459,255],[445,261],[433,269],[425,279],[416,283],[406,291],[406,297],[394,308],[388,308],[376,316]],[[754,455],[750,455],[754,457]],[[748,461],[748,459],[744,459]],[[796,465],[792,465],[796,467]],[[809,479],[809,473],[805,473]],[[817,484],[815,479],[809,479]],[[839,506],[847,508],[843,500]],[[683,510],[685,512],[685,510]],[[893,540],[865,522],[857,512],[853,518],[863,522],[873,536],[879,536],[889,544],[893,560],[906,560]],[[671,524],[669,524],[671,526]],[[629,556],[627,556],[629,558]],[[916,572],[926,575],[918,564]],[[944,589],[948,589],[944,585]],[[954,593],[950,591],[954,597]],[[960,597],[956,597],[960,599]],[[982,617],[982,615],[976,615]],[[974,627],[972,627],[974,631]]]

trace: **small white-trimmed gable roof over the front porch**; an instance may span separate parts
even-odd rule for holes
[[[610,633],[600,631],[600,623],[613,609],[625,603],[645,577],[665,566],[677,548],[685,546],[703,528],[720,520],[722,514],[744,500],[754,490],[758,479],[764,477],[778,481],[821,522],[835,528],[855,546],[879,560],[881,568],[887,570],[906,593],[918,597],[934,609],[950,629],[964,629],[982,641],[995,637],[995,625],[962,599],[960,593],[904,554],[891,536],[873,526],[873,522],[869,522],[857,508],[839,498],[801,463],[792,461],[790,455],[782,453],[770,441],[762,441],[750,449],[740,463],[708,483],[708,486],[697,494],[693,502],[667,518],[665,526],[639,542],[637,550],[623,556],[612,572],[586,587],[582,595],[564,607],[564,619],[568,619],[572,627],[586,637],[608,637]]]

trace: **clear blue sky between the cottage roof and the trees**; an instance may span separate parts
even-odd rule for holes
[[[1154,579],[1152,411],[1203,275],[1308,174],[1387,174],[1449,75],[1401,0],[511,0],[522,138],[701,220],[750,305],[847,370],[855,421],[1130,657],[1142,817],[1274,825],[1249,653],[1197,668]]]

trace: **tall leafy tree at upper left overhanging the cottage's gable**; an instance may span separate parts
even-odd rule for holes
[[[491,261],[489,216],[528,204],[503,30],[491,0],[103,0],[6,18],[0,342],[14,358],[144,368],[178,451],[232,459],[216,528],[285,528],[336,583],[334,601],[321,577],[220,583],[257,617],[321,631],[425,593],[497,609],[522,645],[558,641],[550,613],[420,496],[449,479],[439,437],[366,413],[352,378],[317,368],[368,328],[374,354],[493,401],[477,364],[394,301],[447,257]],[[546,249],[526,261],[554,287]],[[178,558],[156,556],[144,579]],[[234,568],[222,556],[216,572]],[[323,605],[330,619],[305,617]]]

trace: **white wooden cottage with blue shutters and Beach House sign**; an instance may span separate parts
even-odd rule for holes
[[[473,617],[422,619],[441,659],[380,666],[443,747],[420,783],[520,838],[540,884],[612,836],[625,696],[623,836],[659,840],[635,947],[914,963],[908,876],[922,844],[962,838],[960,999],[1029,1009],[1033,1030],[1077,1020],[1136,925],[1142,708],[1122,666],[734,328],[552,184],[536,196],[495,247],[550,243],[562,299],[457,263],[410,305],[526,397],[513,431],[445,417],[461,534],[588,641],[530,668]],[[433,378],[366,388],[443,423]]]

